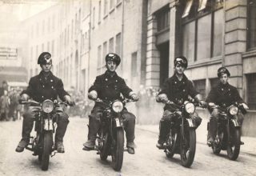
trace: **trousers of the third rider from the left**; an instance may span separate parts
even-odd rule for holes
[[[178,114],[177,112],[171,112],[170,110],[165,110],[163,112],[162,118],[159,122],[158,143],[164,143],[166,141],[166,137],[170,131],[170,122],[175,123],[179,117],[180,114]],[[200,118],[197,113],[193,114],[193,120],[197,127],[200,126],[202,118]]]

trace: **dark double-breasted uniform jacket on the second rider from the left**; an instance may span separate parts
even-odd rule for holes
[[[132,91],[123,78],[114,73],[114,76],[110,76],[109,72],[96,77],[94,85],[90,87],[88,92],[96,90],[98,98],[105,101],[114,101],[120,98],[122,94],[124,97],[129,98],[129,94]]]

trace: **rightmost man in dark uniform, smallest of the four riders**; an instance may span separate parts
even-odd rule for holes
[[[226,69],[226,67],[220,67],[218,69],[218,85],[213,87],[206,98],[206,102],[209,107],[214,107],[216,105],[227,107],[230,106],[234,102],[241,103],[245,110],[248,110],[249,107],[240,97],[238,90],[231,86],[228,82],[230,77],[230,71]],[[211,118],[210,118],[210,126],[207,135],[207,144],[211,146],[212,142],[214,142],[215,135],[217,133],[218,126],[218,116],[220,110],[218,108],[209,109]],[[242,125],[243,117],[242,114],[238,115],[238,122]]]

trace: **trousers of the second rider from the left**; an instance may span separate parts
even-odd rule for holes
[[[95,141],[97,132],[101,126],[100,117],[102,116],[104,108],[101,106],[94,106],[94,109],[89,115],[89,132],[88,140]],[[127,146],[134,147],[134,130],[135,130],[135,116],[127,110],[122,111],[124,118],[123,125],[126,131]]]

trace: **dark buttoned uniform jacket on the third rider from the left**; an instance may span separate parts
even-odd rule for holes
[[[174,74],[172,77],[166,79],[159,94],[166,94],[170,101],[182,104],[188,99],[189,95],[194,98],[199,93],[195,90],[192,82],[186,78],[185,74],[183,74],[181,81]],[[164,109],[168,109],[168,106],[165,106]]]

